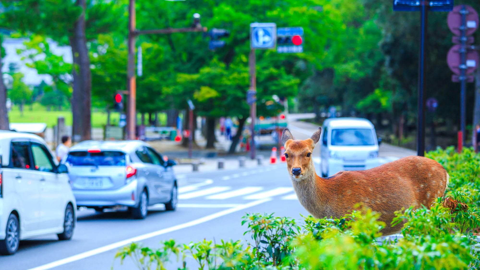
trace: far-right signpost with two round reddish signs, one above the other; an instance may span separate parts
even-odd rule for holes
[[[456,36],[452,42],[456,43],[447,54],[447,63],[452,75],[453,82],[460,82],[460,131],[458,132],[458,152],[465,144],[465,123],[466,123],[466,98],[465,92],[467,82],[473,82],[471,75],[477,68],[479,53],[476,50],[468,50],[473,43],[470,37],[478,28],[479,15],[468,5],[458,5],[448,13],[448,28]]]

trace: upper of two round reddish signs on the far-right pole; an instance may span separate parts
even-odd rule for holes
[[[462,25],[462,6],[465,6],[468,14],[466,15],[466,24],[467,24],[467,36],[471,36],[477,28],[479,27],[479,14],[469,5],[458,5],[453,8],[451,12],[448,12],[447,23],[448,28],[455,36],[462,35],[459,27]]]

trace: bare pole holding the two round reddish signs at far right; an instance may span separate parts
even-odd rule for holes
[[[465,5],[462,5],[462,9],[460,10],[460,14],[462,15],[462,25],[460,27],[461,31],[461,46],[460,46],[460,130],[462,131],[462,146],[465,145],[465,90],[467,87],[467,42],[466,42],[466,30],[467,30],[467,10],[465,9]],[[459,147],[460,149],[460,147]]]

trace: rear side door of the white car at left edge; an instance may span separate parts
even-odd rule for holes
[[[4,181],[15,181],[21,230],[23,233],[38,230],[40,217],[40,183],[33,170],[30,142],[15,140],[10,147],[10,164],[3,168]]]

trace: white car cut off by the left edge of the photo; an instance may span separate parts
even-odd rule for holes
[[[72,238],[77,206],[68,169],[57,165],[45,141],[0,131],[0,164],[0,254],[15,253],[27,238]]]

